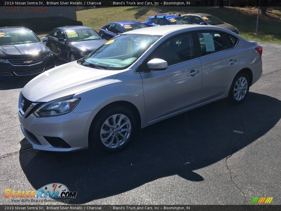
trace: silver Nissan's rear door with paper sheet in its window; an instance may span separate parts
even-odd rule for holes
[[[201,98],[202,102],[205,102],[225,93],[237,73],[239,54],[234,48],[236,43],[230,45],[228,33],[200,30],[196,34],[200,43],[199,58],[202,63]]]

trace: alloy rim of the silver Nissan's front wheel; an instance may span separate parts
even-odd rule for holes
[[[131,122],[124,114],[114,114],[102,125],[100,139],[104,146],[117,148],[123,145],[131,135]]]

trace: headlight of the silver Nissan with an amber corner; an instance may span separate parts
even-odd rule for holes
[[[72,99],[72,97],[73,95],[44,103],[34,114],[37,117],[50,117],[69,113],[80,101],[80,98]]]

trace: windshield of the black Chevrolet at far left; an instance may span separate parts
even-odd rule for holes
[[[18,45],[40,42],[36,35],[32,31],[0,31],[0,45]]]

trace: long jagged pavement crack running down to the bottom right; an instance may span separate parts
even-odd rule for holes
[[[245,204],[245,203],[246,203],[246,195],[245,195],[245,193],[243,192],[243,190],[242,190],[241,188],[239,188],[239,186],[235,183],[234,178],[233,178],[233,176],[234,176],[235,174],[232,172],[232,170],[230,169],[230,166],[229,166],[229,158],[234,154],[234,152],[237,151],[236,146],[237,146],[237,144],[239,143],[239,141],[241,141],[242,137],[243,137],[244,134],[245,134],[245,127],[244,127],[242,115],[240,115],[240,118],[241,118],[241,126],[242,126],[242,131],[243,131],[243,133],[242,133],[241,136],[237,139],[237,141],[235,142],[234,145],[232,145],[232,142],[231,142],[231,140],[230,140],[230,142],[229,142],[229,147],[230,147],[230,149],[232,150],[232,152],[231,152],[231,154],[230,154],[229,156],[227,156],[227,158],[225,159],[225,164],[226,164],[227,170],[228,170],[229,173],[230,173],[230,179],[231,179],[232,183],[233,183],[234,186],[240,191],[240,193],[243,194],[243,198],[244,198],[244,199],[243,199],[243,202],[244,202],[244,204]],[[246,210],[246,208],[245,208],[244,206],[243,206],[243,208],[244,208],[244,210]]]

